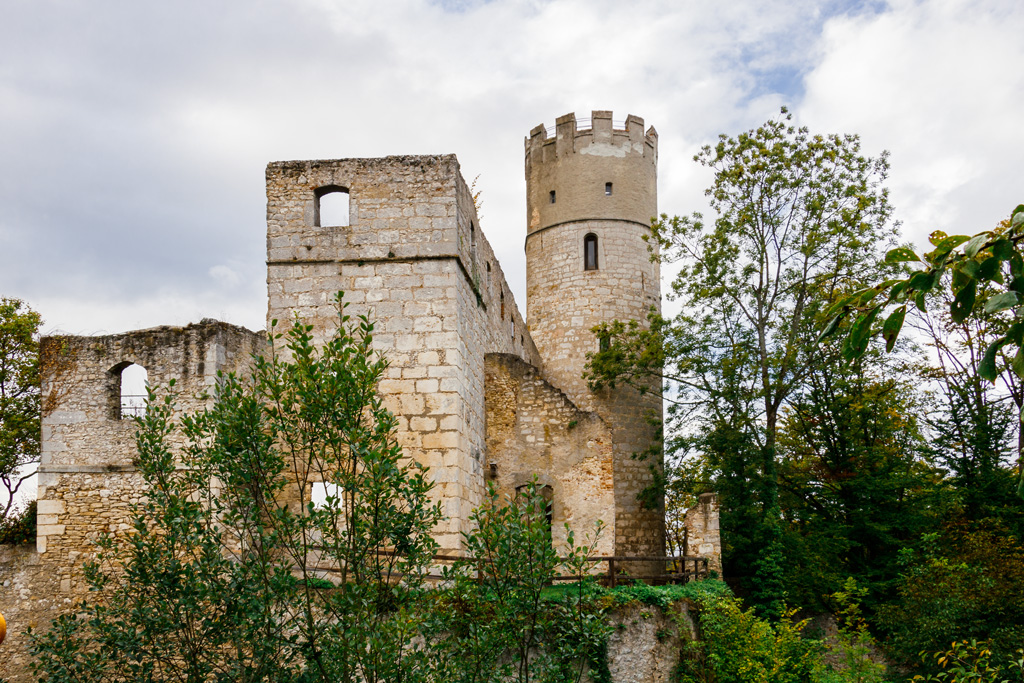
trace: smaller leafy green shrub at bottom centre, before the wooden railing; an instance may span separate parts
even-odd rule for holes
[[[436,680],[578,681],[607,679],[609,627],[587,577],[600,528],[578,545],[571,531],[562,555],[551,545],[546,502],[534,482],[510,501],[492,487],[464,535],[469,557],[446,570],[452,588],[438,597],[428,634]],[[559,568],[577,583],[546,586]],[[596,676],[595,676],[596,674]]]

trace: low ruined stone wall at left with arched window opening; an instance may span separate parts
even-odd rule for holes
[[[143,367],[161,391],[174,379],[180,415],[211,400],[218,371],[245,372],[264,346],[262,333],[215,321],[43,340],[43,367],[59,372],[43,378],[37,550],[61,593],[85,590],[84,556],[100,535],[129,528],[129,506],[144,493],[135,467],[138,427],[121,415],[125,368]]]

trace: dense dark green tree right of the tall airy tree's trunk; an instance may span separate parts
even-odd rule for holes
[[[825,366],[794,394],[779,431],[779,485],[791,599],[822,597],[853,577],[891,591],[898,553],[937,526],[937,473],[922,458],[912,373],[879,354]]]

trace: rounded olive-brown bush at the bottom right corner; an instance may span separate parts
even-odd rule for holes
[[[998,528],[953,526],[906,551],[898,599],[880,610],[893,656],[985,641],[998,658],[1024,642],[1024,546]],[[926,660],[926,667],[929,663]],[[926,673],[938,674],[932,666]]]

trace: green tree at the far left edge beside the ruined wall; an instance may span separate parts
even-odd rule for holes
[[[0,298],[0,524],[39,462],[39,313]]]

